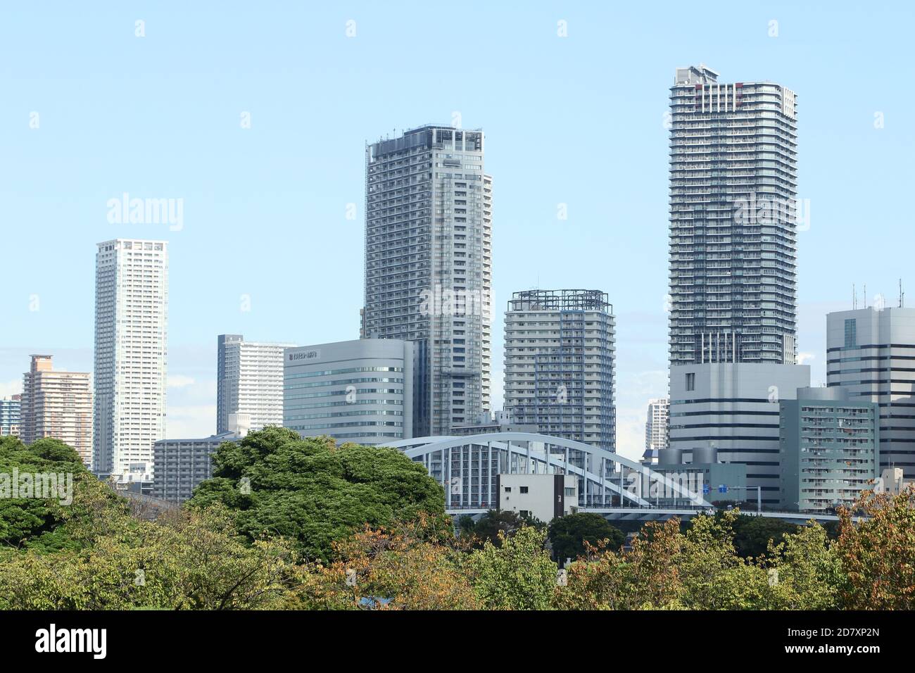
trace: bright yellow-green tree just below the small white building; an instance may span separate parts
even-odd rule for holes
[[[492,610],[547,610],[552,606],[556,564],[544,550],[546,532],[522,526],[501,546],[487,540],[468,560],[468,581]]]

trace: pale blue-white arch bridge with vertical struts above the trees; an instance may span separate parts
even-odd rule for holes
[[[651,508],[657,494],[667,505],[712,507],[699,490],[618,453],[575,440],[531,432],[490,432],[466,437],[421,437],[383,446],[403,451],[445,489],[448,514],[481,514],[499,506],[498,474],[575,474],[578,505]],[[626,469],[628,469],[628,472]]]

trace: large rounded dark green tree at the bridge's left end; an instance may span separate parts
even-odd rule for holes
[[[291,538],[307,559],[331,559],[333,542],[363,526],[445,513],[441,486],[396,449],[270,427],[222,444],[213,465],[188,505],[226,505],[250,539]]]

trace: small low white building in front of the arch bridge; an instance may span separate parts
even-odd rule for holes
[[[499,474],[499,509],[549,523],[578,509],[574,474]]]

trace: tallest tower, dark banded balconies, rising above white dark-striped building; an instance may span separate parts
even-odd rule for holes
[[[671,365],[794,364],[797,117],[780,84],[678,68],[671,88]]]

